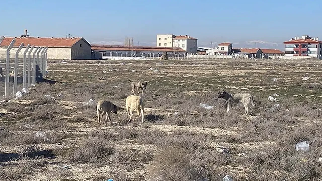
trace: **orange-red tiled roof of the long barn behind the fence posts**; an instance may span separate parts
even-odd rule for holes
[[[11,38],[5,37],[1,42],[0,46],[9,46],[12,41]],[[20,46],[21,43],[24,43],[24,46],[27,44],[34,46],[43,46],[43,47],[72,47],[75,43],[80,41],[82,38],[16,38],[14,46]],[[86,42],[86,41],[85,41]],[[86,42],[87,43],[87,42]]]

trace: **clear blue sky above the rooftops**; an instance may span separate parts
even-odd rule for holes
[[[27,2],[27,3],[26,3]],[[1,2],[0,35],[84,37],[91,43],[156,45],[156,34],[189,34],[198,46],[232,42],[234,47],[280,48],[308,34],[322,39],[318,0],[56,0]]]

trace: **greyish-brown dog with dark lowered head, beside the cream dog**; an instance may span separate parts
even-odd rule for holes
[[[114,105],[113,103],[111,103],[110,101],[107,100],[99,100],[97,102],[97,119],[99,122],[99,127],[102,123],[102,118],[103,118],[103,114],[106,114],[106,118],[105,118],[105,126],[107,126],[106,124],[106,120],[109,119],[110,124],[112,125],[112,119],[110,118],[110,113],[113,112],[115,115],[118,114],[117,112],[117,106]]]

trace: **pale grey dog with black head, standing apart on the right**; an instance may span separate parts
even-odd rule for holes
[[[218,98],[223,98],[224,100],[226,100],[228,114],[233,103],[243,103],[245,107],[245,113],[243,115],[245,116],[249,116],[250,104],[252,106],[256,106],[253,95],[251,95],[250,93],[236,93],[232,95],[226,91],[219,91],[218,94]]]

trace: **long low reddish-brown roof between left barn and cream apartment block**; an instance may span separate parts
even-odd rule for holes
[[[92,50],[113,50],[113,51],[155,51],[155,52],[186,52],[179,47],[159,47],[159,46],[124,46],[124,45],[91,45]]]

